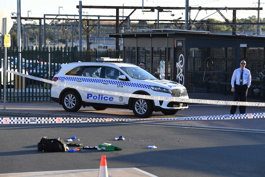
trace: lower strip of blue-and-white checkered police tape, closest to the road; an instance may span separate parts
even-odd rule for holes
[[[209,115],[183,118],[154,118],[154,119],[120,119],[120,118],[82,118],[82,117],[0,117],[0,124],[42,124],[42,123],[93,123],[93,122],[124,122],[124,121],[174,121],[174,120],[225,120],[225,119],[258,119],[264,118],[265,113],[249,113],[235,115]],[[172,123],[172,122],[171,122]],[[177,123],[177,122],[176,122]],[[182,123],[183,124],[183,123]]]

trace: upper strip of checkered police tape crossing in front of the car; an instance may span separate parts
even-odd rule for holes
[[[5,68],[3,68],[5,70]],[[240,102],[240,101],[223,101],[223,100],[206,100],[206,99],[185,99],[185,98],[178,98],[178,97],[163,97],[163,96],[152,96],[152,95],[138,95],[138,94],[130,94],[130,93],[122,93],[122,92],[115,92],[115,91],[106,91],[106,90],[99,90],[99,89],[92,89],[83,86],[75,86],[71,84],[66,84],[62,82],[51,81],[44,78],[38,78],[36,76],[31,76],[28,74],[19,73],[16,71],[6,70],[8,73],[16,74],[18,76],[22,76],[25,78],[34,79],[41,82],[47,82],[49,84],[54,84],[58,86],[69,87],[73,89],[95,92],[100,94],[107,94],[107,95],[116,95],[122,97],[131,97],[131,98],[139,98],[139,99],[152,99],[152,100],[161,100],[161,101],[171,101],[171,102],[182,102],[182,103],[199,103],[199,104],[216,104],[216,105],[236,105],[236,106],[255,106],[255,107],[264,107],[265,103],[261,102]]]

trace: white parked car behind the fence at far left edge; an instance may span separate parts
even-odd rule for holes
[[[10,62],[10,60],[7,60],[6,64],[7,64],[7,70],[18,72],[17,66],[14,65],[13,62]],[[1,59],[1,68],[4,68],[4,59],[3,58]],[[22,69],[22,73],[28,75],[28,72],[24,69]],[[27,87],[28,86],[28,79],[26,79],[25,81],[26,81],[25,86]],[[1,71],[1,84],[4,85],[4,72],[3,71]],[[7,73],[6,84],[7,84],[7,86],[10,86],[10,87],[14,86],[14,84],[15,84],[14,83],[14,74]]]

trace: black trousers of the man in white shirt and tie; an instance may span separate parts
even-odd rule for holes
[[[247,101],[247,84],[246,85],[236,85],[235,84],[235,91],[233,93],[234,99],[233,101]],[[235,114],[237,106],[232,106],[230,110],[230,114]],[[245,114],[246,106],[239,106],[240,114]]]

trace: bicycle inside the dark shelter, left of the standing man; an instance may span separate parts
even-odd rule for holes
[[[206,84],[206,92],[214,93],[218,90],[219,81],[214,76],[214,71],[204,71],[203,82]]]

